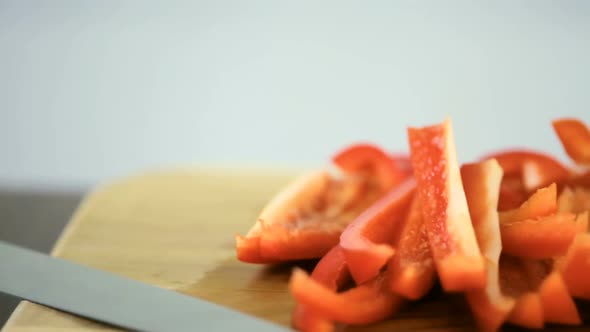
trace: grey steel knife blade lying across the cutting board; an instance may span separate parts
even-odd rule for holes
[[[133,331],[287,331],[188,295],[0,241],[0,292]]]

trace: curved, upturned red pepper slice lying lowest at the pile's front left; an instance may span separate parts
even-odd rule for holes
[[[381,321],[395,313],[402,298],[386,291],[383,275],[343,293],[316,282],[295,269],[289,289],[295,299],[327,319],[351,325]]]

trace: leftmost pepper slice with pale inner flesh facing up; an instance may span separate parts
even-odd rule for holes
[[[345,194],[347,190],[340,190],[342,187],[337,187],[335,181],[328,172],[317,171],[289,184],[268,203],[246,236],[236,236],[238,259],[274,263],[321,257],[328,252],[337,244],[344,227],[335,222],[322,223],[311,211],[315,210],[314,205],[326,204],[323,200],[329,191]],[[360,183],[348,185],[351,196],[342,197],[342,202],[337,204],[348,203],[361,190]]]

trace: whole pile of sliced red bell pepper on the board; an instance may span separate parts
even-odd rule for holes
[[[278,193],[236,237],[237,257],[319,259],[289,281],[301,331],[395,319],[437,282],[464,294],[482,331],[579,325],[573,298],[590,300],[590,131],[572,118],[553,128],[570,166],[515,149],[459,165],[450,119],[408,128],[409,155],[349,146]]]

